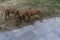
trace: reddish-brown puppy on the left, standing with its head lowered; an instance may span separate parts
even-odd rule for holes
[[[18,9],[15,8],[6,8],[3,10],[5,13],[5,22],[7,21],[7,17],[9,17],[9,14],[13,14],[16,18],[15,22],[18,24],[19,20],[21,19],[20,12]],[[21,20],[20,20],[21,21]]]

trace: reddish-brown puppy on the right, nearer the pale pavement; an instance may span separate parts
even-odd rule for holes
[[[31,16],[38,15],[40,19],[42,19],[43,14],[41,10],[28,10],[24,12],[23,16],[27,17],[27,20],[29,21]]]

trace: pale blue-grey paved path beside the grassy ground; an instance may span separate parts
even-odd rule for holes
[[[36,21],[34,25],[0,33],[0,40],[60,40],[60,18]]]

